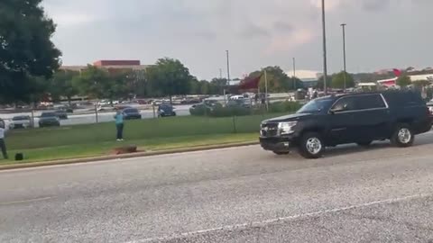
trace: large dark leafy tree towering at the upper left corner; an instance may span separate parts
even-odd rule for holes
[[[55,30],[41,0],[0,2],[0,102],[29,102],[39,84],[33,81],[60,67],[60,50],[51,42]]]

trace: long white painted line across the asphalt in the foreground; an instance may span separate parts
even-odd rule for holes
[[[255,228],[255,227],[261,228],[261,227],[264,227],[266,225],[269,225],[272,223],[277,223],[277,222],[284,222],[284,221],[290,221],[290,220],[298,220],[298,219],[303,219],[303,218],[316,217],[316,216],[327,214],[327,213],[334,213],[334,212],[339,212],[339,211],[349,211],[349,210],[353,210],[353,209],[366,208],[366,207],[370,207],[373,205],[391,204],[394,202],[404,202],[404,201],[409,201],[412,199],[419,199],[419,198],[425,198],[425,197],[431,197],[431,196],[433,196],[433,193],[415,194],[415,195],[409,195],[409,196],[380,200],[380,201],[374,201],[374,202],[366,202],[366,203],[346,206],[343,208],[300,213],[300,214],[295,214],[295,215],[291,215],[291,216],[287,216],[287,217],[274,218],[274,219],[262,220],[262,221],[253,221],[253,222],[234,224],[234,225],[226,225],[226,226],[218,227],[218,228],[200,229],[200,230],[196,230],[196,231],[189,231],[189,232],[170,235],[170,236],[143,238],[143,239],[127,241],[124,243],[145,243],[145,242],[154,242],[154,241],[161,241],[161,240],[167,241],[167,240],[172,240],[172,239],[176,239],[176,238],[189,238],[189,237],[193,237],[193,236],[197,236],[197,235],[202,235],[202,234],[217,232],[217,231],[224,231],[224,230],[232,230],[233,231],[235,229],[248,229],[248,228]]]

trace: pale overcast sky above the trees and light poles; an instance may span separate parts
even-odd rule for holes
[[[326,0],[330,72],[433,66],[433,0]],[[179,58],[199,78],[264,66],[322,69],[320,0],[45,0],[64,65]]]

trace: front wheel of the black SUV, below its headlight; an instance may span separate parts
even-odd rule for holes
[[[308,132],[302,136],[299,143],[299,154],[305,158],[322,157],[325,144],[318,132]]]

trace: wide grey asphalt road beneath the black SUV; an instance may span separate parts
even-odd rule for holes
[[[257,146],[0,172],[0,242],[433,242],[433,134],[413,148]]]

